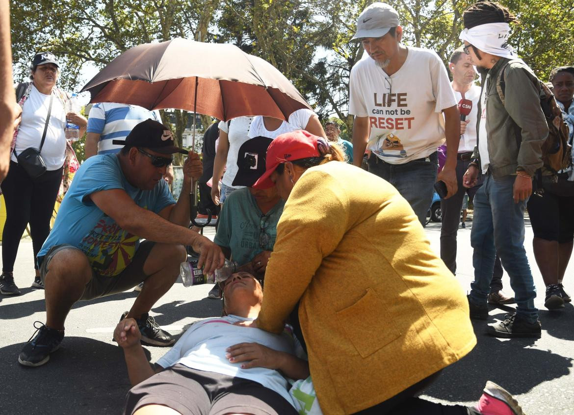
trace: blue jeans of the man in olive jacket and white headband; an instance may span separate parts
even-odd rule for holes
[[[524,249],[524,211],[528,200],[514,203],[514,180],[515,176],[494,179],[489,172],[474,197],[474,281],[470,296],[476,304],[486,304],[498,253],[514,290],[517,315],[533,323],[538,319],[538,309],[534,307],[536,288]]]

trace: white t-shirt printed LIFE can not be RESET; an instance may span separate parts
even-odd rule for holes
[[[369,117],[367,149],[391,164],[436,152],[445,137],[441,111],[457,104],[439,56],[410,46],[391,76],[365,54],[351,69],[349,89],[349,113]]]

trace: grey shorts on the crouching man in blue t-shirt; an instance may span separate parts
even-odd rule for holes
[[[145,281],[148,276],[144,274],[144,263],[145,260],[148,259],[149,253],[154,245],[155,242],[142,241],[139,244],[138,250],[135,251],[135,255],[130,264],[117,276],[101,276],[92,268],[92,278],[88,281],[88,284],[86,284],[86,288],[84,289],[84,293],[80,300],[92,300],[94,298],[121,293],[125,290],[129,290],[130,288],[134,288],[140,282]],[[44,283],[46,274],[49,271],[48,267],[50,265],[50,261],[52,261],[54,255],[64,249],[75,249],[82,252],[84,256],[86,255],[81,249],[67,243],[51,247],[44,257],[38,257],[42,284]]]

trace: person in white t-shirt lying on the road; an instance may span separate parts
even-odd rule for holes
[[[233,274],[222,284],[226,316],[193,324],[153,368],[135,320],[120,321],[114,338],[134,385],[124,413],[168,407],[194,414],[297,414],[285,377],[309,377],[302,347],[287,327],[275,335],[235,324],[254,320],[261,310],[263,291],[251,274]]]

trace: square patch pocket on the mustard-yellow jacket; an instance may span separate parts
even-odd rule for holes
[[[336,318],[359,354],[366,358],[401,336],[387,308],[372,288],[355,304],[336,312]]]

